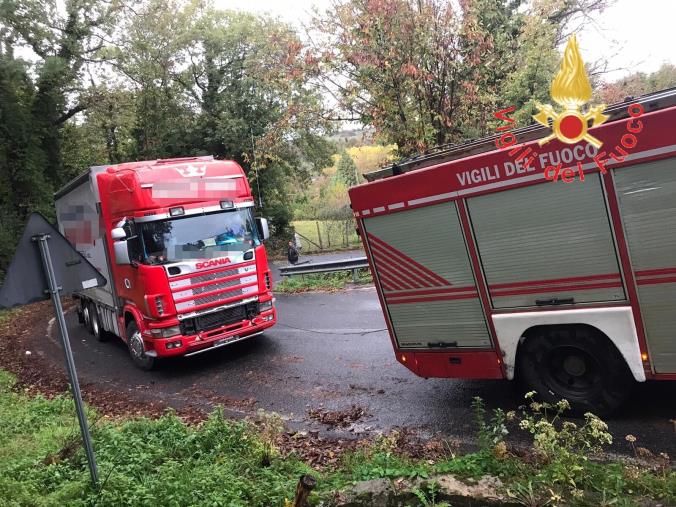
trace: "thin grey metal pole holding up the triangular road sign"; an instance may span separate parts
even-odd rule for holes
[[[73,351],[70,348],[70,339],[68,338],[66,319],[63,316],[63,308],[61,306],[61,299],[59,298],[60,287],[57,285],[56,275],[54,274],[54,266],[52,265],[52,257],[49,254],[49,245],[47,244],[48,239],[49,234],[33,236],[33,241],[36,241],[40,247],[42,265],[45,268],[45,275],[47,276],[47,283],[49,284],[48,292],[52,298],[54,314],[56,317],[56,322],[59,326],[59,337],[61,338],[61,345],[63,346],[63,352],[66,356],[66,368],[68,369],[68,377],[70,378],[70,387],[73,391],[75,409],[77,410],[77,418],[80,423],[80,432],[82,433],[82,441],[84,442],[85,452],[87,453],[87,461],[89,462],[89,474],[91,475],[94,486],[98,486],[99,473],[96,468],[96,458],[94,457],[92,439],[89,435],[89,425],[87,424],[87,416],[85,415],[84,403],[82,402],[80,383],[77,380],[77,373],[75,371]]]

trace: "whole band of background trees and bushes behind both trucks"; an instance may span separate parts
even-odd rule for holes
[[[54,191],[130,160],[236,160],[276,252],[294,219],[349,231],[364,172],[493,132],[504,107],[530,123],[558,48],[610,3],[339,0],[304,30],[211,0],[4,0],[0,276]],[[601,102],[676,84],[671,64],[606,84],[587,63]]]

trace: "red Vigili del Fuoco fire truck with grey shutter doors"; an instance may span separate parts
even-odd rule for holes
[[[676,380],[674,106],[667,90],[608,107],[600,149],[540,146],[532,125],[365,175],[350,201],[397,360],[577,413]]]

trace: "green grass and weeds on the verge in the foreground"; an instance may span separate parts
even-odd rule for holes
[[[428,442],[411,452],[393,432],[345,451],[334,463],[312,469],[280,445],[281,418],[259,411],[245,421],[214,411],[199,425],[167,413],[159,419],[109,419],[89,410],[101,486],[89,483],[73,403],[68,396],[29,395],[0,370],[0,499],[2,505],[289,505],[298,478],[318,486],[313,505],[360,481],[417,480],[419,505],[444,505],[435,477],[463,480],[491,475],[501,494],[528,506],[640,505],[676,502],[676,472],[665,455],[639,451],[635,464],[602,462],[611,437],[603,421],[561,419],[566,403],[526,400],[521,411],[492,413],[475,400],[478,450],[461,454],[448,442]],[[532,447],[505,443],[510,431],[532,435]],[[628,438],[628,444],[635,445]],[[633,447],[632,447],[633,448]],[[411,457],[415,455],[416,457]]]

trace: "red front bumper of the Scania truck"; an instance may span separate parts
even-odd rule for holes
[[[194,335],[176,335],[171,338],[144,337],[146,354],[155,357],[192,356],[251,338],[272,327],[277,322],[277,312],[271,310],[251,320],[229,324]]]

